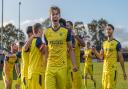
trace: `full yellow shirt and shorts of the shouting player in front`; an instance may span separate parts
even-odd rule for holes
[[[67,42],[71,41],[71,32],[64,27],[56,31],[49,27],[44,35],[49,53],[45,89],[66,89]]]

